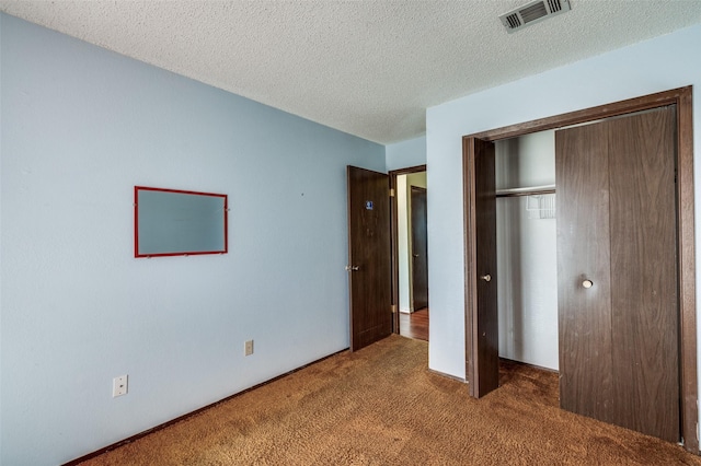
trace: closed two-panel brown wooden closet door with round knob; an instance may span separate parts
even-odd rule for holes
[[[556,132],[564,409],[679,433],[676,109]]]

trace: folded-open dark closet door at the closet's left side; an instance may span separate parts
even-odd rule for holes
[[[464,138],[466,301],[468,382],[475,398],[498,387],[499,336],[496,296],[496,191],[494,143]]]

